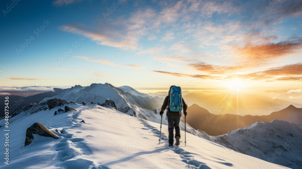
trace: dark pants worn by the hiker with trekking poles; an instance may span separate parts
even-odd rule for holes
[[[167,120],[168,120],[168,131],[169,131],[169,144],[173,144],[174,127],[175,127],[175,138],[177,136],[180,138],[180,128],[179,128],[180,116],[167,116]]]

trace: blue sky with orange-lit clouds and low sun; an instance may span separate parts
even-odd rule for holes
[[[2,93],[106,82],[145,93],[301,88],[300,0],[0,4]]]

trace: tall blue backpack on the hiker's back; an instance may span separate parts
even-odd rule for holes
[[[182,89],[179,86],[171,88],[169,109],[173,112],[182,111]]]

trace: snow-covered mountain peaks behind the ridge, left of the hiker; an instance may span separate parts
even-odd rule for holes
[[[128,86],[127,88],[130,87]],[[136,93],[139,92],[136,91]],[[116,88],[109,83],[105,83],[105,84],[93,83],[87,87],[75,86],[63,92],[62,94],[59,94],[51,98],[60,98],[67,101],[73,101],[76,103],[94,102],[96,104],[98,103],[103,104],[107,99],[110,99],[114,101],[117,108],[125,109],[127,107],[130,107],[131,110],[127,114],[132,114],[132,115],[133,115],[133,110],[137,111],[139,114],[142,114],[143,112],[148,111],[148,109],[155,109],[161,107],[161,104],[163,102],[163,100],[160,99],[159,97],[150,98],[150,97],[142,97],[142,96],[126,93],[122,89]],[[41,102],[44,102],[49,99],[50,97],[45,98]],[[140,113],[140,111],[142,113]]]

